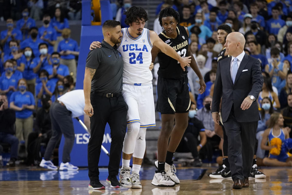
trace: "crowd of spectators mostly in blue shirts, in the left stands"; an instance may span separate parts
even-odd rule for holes
[[[75,89],[79,46],[70,38],[68,18],[80,19],[81,1],[9,2],[0,2],[11,10],[0,11],[7,25],[0,33],[0,123],[7,122],[0,144],[11,145],[9,165],[15,165],[21,146],[26,162],[38,164],[35,149],[50,138],[50,104]],[[20,13],[12,14],[19,5]]]

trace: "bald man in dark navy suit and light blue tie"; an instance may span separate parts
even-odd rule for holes
[[[234,189],[249,187],[249,174],[255,148],[259,112],[256,99],[262,89],[261,65],[243,51],[245,38],[239,32],[226,37],[226,51],[231,57],[218,62],[212,116],[219,124],[222,98],[222,121],[228,136],[228,161]]]

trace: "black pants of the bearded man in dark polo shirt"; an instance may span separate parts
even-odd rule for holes
[[[88,176],[90,181],[99,179],[99,156],[103,143],[106,123],[109,123],[111,145],[109,152],[109,176],[119,173],[123,141],[127,129],[128,106],[122,94],[116,97],[101,97],[94,92],[90,94],[93,115],[90,117],[90,139],[88,143]]]

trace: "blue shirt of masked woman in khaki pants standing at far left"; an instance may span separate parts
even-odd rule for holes
[[[20,91],[15,91],[11,94],[10,102],[14,102],[17,107],[22,107],[22,105],[35,105],[35,100],[33,94],[30,91],[24,92],[22,94]],[[22,111],[15,111],[16,118],[27,119],[33,114],[30,109],[24,109]]]

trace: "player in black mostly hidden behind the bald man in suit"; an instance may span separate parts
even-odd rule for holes
[[[218,42],[222,44],[222,48],[223,48],[219,52],[219,55],[217,58],[218,62],[222,59],[230,57],[230,55],[228,55],[228,53],[226,52],[224,44],[226,42],[227,35],[231,32],[232,32],[231,28],[226,24],[221,24],[218,27],[217,39],[218,39]],[[215,133],[223,139],[223,151],[222,151],[223,163],[216,171],[212,172],[209,176],[214,179],[231,178],[230,165],[228,162],[228,138],[225,133],[224,126],[222,125],[221,122],[220,122],[220,126],[215,123]],[[254,156],[252,171],[250,175],[251,177],[257,178],[257,179],[266,178],[266,175],[258,171],[257,169],[256,156]]]

